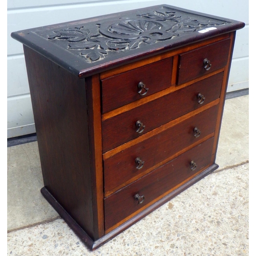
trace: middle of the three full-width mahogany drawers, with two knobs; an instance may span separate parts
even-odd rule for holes
[[[219,104],[105,159],[104,191],[141,175],[148,168],[214,133],[218,109]]]

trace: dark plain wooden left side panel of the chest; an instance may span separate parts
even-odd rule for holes
[[[45,187],[97,239],[84,80],[26,46],[24,52]]]

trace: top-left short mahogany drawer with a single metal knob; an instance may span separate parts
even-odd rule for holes
[[[172,67],[173,58],[167,58],[103,79],[102,113],[168,88],[172,79]]]

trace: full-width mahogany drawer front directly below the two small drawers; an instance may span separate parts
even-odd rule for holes
[[[223,72],[102,121],[103,152],[219,98],[222,78]],[[198,103],[199,93],[205,98],[202,104]],[[139,130],[141,133],[136,132],[137,121],[145,125],[143,131]]]

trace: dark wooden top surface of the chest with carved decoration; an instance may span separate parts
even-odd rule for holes
[[[233,22],[163,5],[105,15],[94,18],[94,22],[84,19],[36,28],[30,33],[23,31],[23,35],[19,35],[23,38],[27,35],[29,41],[36,39],[35,48],[45,45],[42,52],[51,53],[53,56],[48,57],[55,59],[62,67],[67,63],[61,62],[69,61],[67,59],[70,59],[68,66],[72,66],[74,61],[79,62],[77,66],[83,64],[84,68],[74,65],[69,67],[71,72],[81,74],[90,67],[92,69],[118,59],[134,58],[132,56],[157,49],[172,49],[185,41],[193,42],[223,33],[232,27]]]

